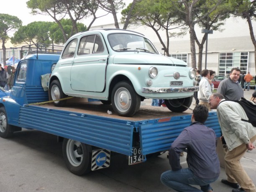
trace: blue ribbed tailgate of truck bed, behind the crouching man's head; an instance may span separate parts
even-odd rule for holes
[[[191,115],[175,116],[161,122],[148,122],[139,126],[142,154],[151,154],[166,151],[172,142],[179,136],[181,131],[191,123]],[[205,122],[207,127],[212,128],[217,137],[220,137],[220,125],[216,113],[209,113]]]

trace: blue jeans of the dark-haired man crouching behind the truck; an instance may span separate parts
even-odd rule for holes
[[[218,179],[201,179],[196,177],[189,168],[179,169],[178,171],[169,170],[161,175],[161,182],[178,192],[207,192],[212,189],[210,183]],[[200,185],[201,190],[192,185]]]

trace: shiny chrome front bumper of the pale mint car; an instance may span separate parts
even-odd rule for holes
[[[171,93],[198,91],[199,87],[142,87],[143,93]]]

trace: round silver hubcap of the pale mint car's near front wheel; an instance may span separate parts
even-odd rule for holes
[[[114,100],[116,108],[121,112],[125,112],[131,107],[131,94],[124,87],[116,90]]]

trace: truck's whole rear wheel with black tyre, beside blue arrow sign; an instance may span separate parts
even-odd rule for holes
[[[83,175],[91,171],[92,148],[90,145],[64,138],[62,153],[67,168],[73,174]]]

